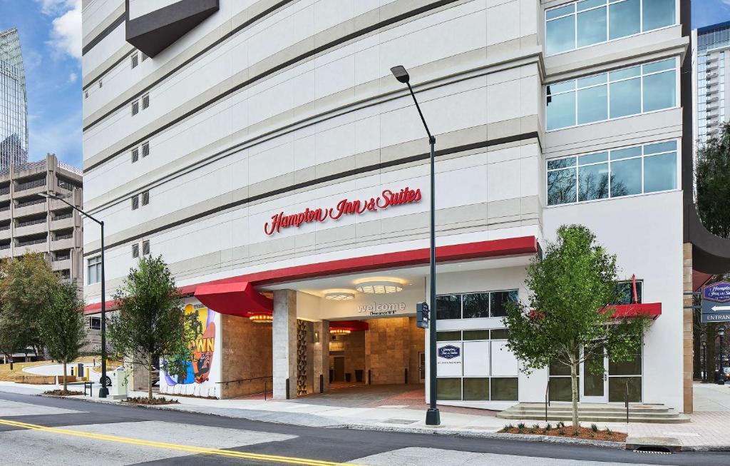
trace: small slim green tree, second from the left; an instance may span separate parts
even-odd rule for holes
[[[48,354],[64,364],[64,391],[66,365],[81,355],[86,340],[84,302],[73,283],[58,283],[40,313],[40,335]]]

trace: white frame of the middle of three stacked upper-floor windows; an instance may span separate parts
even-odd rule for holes
[[[673,59],[675,61],[675,67],[674,67],[674,72],[675,72],[675,104],[674,104],[673,107],[666,107],[666,108],[661,108],[661,109],[658,109],[658,110],[649,110],[648,112],[645,112],[644,111],[644,78],[647,77],[647,76],[653,76],[653,75],[659,75],[661,73],[666,73],[666,72],[672,71],[672,69],[671,68],[669,68],[669,69],[662,69],[660,71],[645,73],[644,72],[644,67],[647,66],[647,65],[659,63],[661,61],[666,61],[666,60],[669,60],[669,59]],[[611,80],[611,77],[610,77],[610,74],[611,73],[621,72],[623,70],[635,68],[637,66],[639,66],[639,75],[638,76],[623,77],[623,78],[619,78],[619,79],[616,79],[616,80]],[[605,83],[598,83],[598,84],[586,85],[586,86],[584,86],[582,88],[579,88],[578,87],[578,83],[577,83],[578,80],[584,80],[584,79],[587,79],[587,78],[596,77],[596,76],[600,76],[600,75],[606,75],[606,82]],[[626,82],[626,81],[629,81],[629,80],[635,80],[635,79],[637,79],[637,77],[639,78],[639,107],[640,107],[640,111],[638,113],[631,113],[631,115],[622,115],[622,116],[619,116],[619,117],[611,118],[611,85],[613,83],[623,83],[623,82]],[[573,82],[572,89],[569,89],[567,91],[559,91],[559,92],[548,93],[548,88],[551,85],[565,84],[565,83],[570,83],[571,81]],[[589,121],[588,123],[578,123],[578,100],[579,100],[578,99],[578,92],[579,91],[583,91],[585,89],[596,88],[596,87],[601,86],[601,85],[605,85],[606,86],[606,104],[607,104],[606,110],[607,110],[607,118],[605,118],[604,120]],[[593,73],[591,75],[577,76],[577,77],[572,77],[572,78],[567,79],[567,80],[555,81],[553,83],[545,83],[545,93],[543,93],[543,99],[545,99],[543,101],[544,102],[543,108],[545,109],[545,132],[550,133],[550,132],[553,132],[553,131],[562,131],[564,129],[577,128],[577,127],[580,127],[580,126],[593,125],[593,124],[596,124],[596,123],[604,123],[606,121],[617,121],[617,120],[621,120],[622,118],[632,118],[632,117],[639,116],[639,115],[650,115],[651,113],[664,112],[666,110],[676,109],[676,108],[679,108],[680,107],[680,100],[681,100],[680,87],[681,87],[681,83],[680,83],[680,66],[678,64],[678,58],[677,58],[677,56],[664,57],[664,58],[659,58],[658,60],[652,60],[652,61],[645,61],[645,62],[642,61],[642,62],[639,62],[639,63],[631,64],[629,66],[622,66],[621,68],[606,69],[606,70],[604,70],[602,72]],[[573,108],[573,121],[575,122],[575,124],[572,124],[572,125],[569,125],[569,126],[561,126],[560,128],[548,129],[548,96],[550,96],[550,97],[553,97],[553,96],[561,96],[561,95],[564,95],[564,94],[567,94],[567,93],[573,93],[575,95],[575,99],[573,99],[573,101],[574,101],[573,102],[573,106],[574,106],[574,108]]]

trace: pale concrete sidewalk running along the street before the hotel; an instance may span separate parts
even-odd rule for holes
[[[699,385],[699,384],[697,384]],[[0,382],[0,391],[23,394],[40,394],[48,387]],[[643,423],[603,423],[616,432],[626,432],[629,437],[666,438],[678,440],[685,449],[723,449],[730,451],[730,386],[704,385],[696,387],[696,400],[700,408],[717,410],[696,411],[692,421],[686,424],[643,424]],[[133,391],[130,396],[147,396],[146,392]],[[171,397],[165,395],[166,397]],[[82,397],[74,397],[82,399]],[[179,405],[162,405],[155,408],[183,410],[194,413],[207,413],[253,421],[293,424],[304,427],[342,427],[350,429],[394,430],[399,432],[427,432],[445,435],[470,435],[494,437],[505,424],[517,425],[524,422],[545,424],[544,421],[510,421],[497,419],[491,411],[484,414],[452,412],[449,407],[441,411],[442,425],[426,426],[423,409],[407,405],[380,405],[372,407],[343,407],[323,403],[323,397],[315,398],[317,404],[299,400],[205,400],[190,397],[171,397]],[[91,400],[86,397],[85,400]],[[93,401],[100,402],[98,398]],[[107,401],[104,401],[107,402]],[[109,400],[108,402],[116,402]],[[724,410],[721,410],[724,409]],[[553,424],[555,424],[553,422]],[[584,423],[588,424],[588,423]],[[499,435],[501,437],[501,435]],[[525,436],[528,437],[528,436]],[[536,436],[529,436],[536,437]],[[537,440],[537,439],[535,439]],[[544,440],[544,439],[543,439]],[[550,441],[571,440],[555,438]]]

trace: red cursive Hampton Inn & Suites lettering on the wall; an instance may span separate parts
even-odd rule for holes
[[[272,220],[264,224],[264,233],[272,235],[281,232],[282,229],[290,226],[299,227],[302,224],[310,224],[312,222],[323,222],[328,218],[339,220],[342,215],[364,215],[368,212],[377,210],[385,210],[388,207],[397,205],[413,204],[421,199],[420,189],[411,189],[405,187],[400,191],[391,191],[385,189],[380,196],[371,197],[370,199],[342,199],[337,202],[335,207],[317,207],[310,209],[307,207],[299,213],[280,212],[272,215]]]

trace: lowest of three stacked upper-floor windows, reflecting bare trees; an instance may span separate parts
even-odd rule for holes
[[[676,140],[548,160],[548,205],[676,189],[677,160]]]

